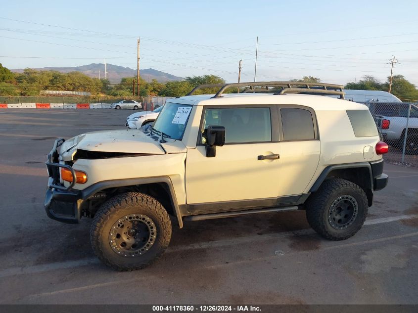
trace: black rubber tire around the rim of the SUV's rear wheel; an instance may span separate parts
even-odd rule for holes
[[[357,216],[347,228],[335,229],[328,221],[328,210],[335,199],[349,195],[357,201]],[[353,236],[363,226],[369,209],[364,190],[345,179],[327,179],[306,203],[306,218],[309,225],[329,240],[344,240]]]

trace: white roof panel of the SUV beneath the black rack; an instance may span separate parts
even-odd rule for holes
[[[167,102],[189,105],[231,105],[231,104],[297,104],[314,110],[368,110],[364,104],[323,95],[310,94],[269,94],[269,93],[224,93],[189,95],[167,99]]]

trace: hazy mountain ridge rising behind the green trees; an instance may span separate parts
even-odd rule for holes
[[[74,66],[74,67],[42,67],[42,68],[35,68],[34,70],[37,71],[57,71],[61,73],[69,73],[69,72],[81,72],[90,77],[99,77],[99,70],[100,70],[100,78],[104,78],[104,64],[103,63],[92,63],[89,65],[82,65],[82,66]],[[10,70],[15,73],[22,73],[23,69],[13,69]],[[113,64],[106,64],[106,71],[107,71],[107,79],[110,83],[119,83],[122,78],[124,77],[132,77],[137,76],[137,70],[134,70],[129,67],[123,67]],[[152,68],[141,69],[140,76],[145,81],[152,79],[156,79],[160,83],[165,83],[168,81],[181,81],[184,78],[174,76],[168,73],[164,73],[161,71],[154,70]]]

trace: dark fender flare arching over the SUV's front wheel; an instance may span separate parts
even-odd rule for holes
[[[104,180],[94,183],[93,185],[87,187],[84,190],[80,191],[80,199],[87,200],[96,194],[99,191],[102,191],[107,188],[115,188],[115,187],[127,187],[127,186],[134,186],[134,185],[144,185],[149,183],[156,183],[162,182],[167,184],[168,191],[170,192],[170,201],[171,205],[173,206],[177,220],[179,221],[180,228],[183,227],[183,220],[182,215],[180,212],[179,204],[177,203],[176,193],[174,191],[173,182],[167,176],[161,177],[151,177],[151,178],[134,178],[134,179],[115,179],[115,180]]]

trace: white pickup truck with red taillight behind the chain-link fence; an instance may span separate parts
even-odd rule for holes
[[[403,148],[409,103],[371,102],[368,104],[376,126],[386,142]],[[405,153],[418,154],[418,105],[411,105]]]

